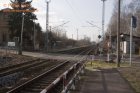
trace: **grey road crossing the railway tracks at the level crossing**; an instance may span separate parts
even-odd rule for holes
[[[0,49],[0,51],[4,51],[6,52],[4,49]],[[10,53],[16,53],[13,50],[8,50],[10,51]],[[39,52],[23,52],[23,55],[28,55],[28,56],[33,56],[33,57],[39,57],[39,58],[51,58],[51,59],[63,59],[63,60],[80,60],[81,57],[83,57],[83,55],[81,56],[76,56],[76,55],[69,55],[69,54],[50,54],[50,53],[39,53]],[[84,56],[85,58],[87,57],[86,55]],[[114,61],[116,61],[116,56],[111,57],[113,58]],[[103,56],[95,56],[96,60],[103,60],[103,61],[107,61],[107,56],[103,55]],[[124,60],[122,60],[123,62],[129,62],[130,58],[129,55],[125,55],[124,56]],[[132,62],[134,63],[140,63],[140,55],[132,55]]]

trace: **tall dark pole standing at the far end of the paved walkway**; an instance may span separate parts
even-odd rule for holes
[[[117,67],[120,67],[120,0],[118,0]]]

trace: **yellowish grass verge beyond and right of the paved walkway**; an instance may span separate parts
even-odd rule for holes
[[[86,69],[88,70],[107,68],[117,68],[117,65],[115,63],[106,63],[99,61],[92,61],[86,64]],[[128,63],[121,63],[121,67],[117,69],[135,89],[136,93],[140,93],[140,66],[138,66],[137,64],[133,64],[133,66],[130,67]]]

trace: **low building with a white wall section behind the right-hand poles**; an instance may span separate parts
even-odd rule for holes
[[[129,54],[130,53],[130,35],[129,34],[120,34],[120,49],[121,53]],[[117,36],[111,36],[111,39],[108,39],[108,42],[111,41],[111,50],[116,52],[117,49]],[[140,54],[140,37],[133,35],[132,41],[132,54]]]

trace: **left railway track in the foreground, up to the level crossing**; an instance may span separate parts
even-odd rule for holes
[[[44,60],[40,64],[32,65],[28,68],[26,67],[26,69],[19,69],[12,74],[8,73],[7,75],[0,77],[0,93],[5,93],[5,91],[8,91],[12,87],[19,86],[60,63],[62,63],[62,61]]]

